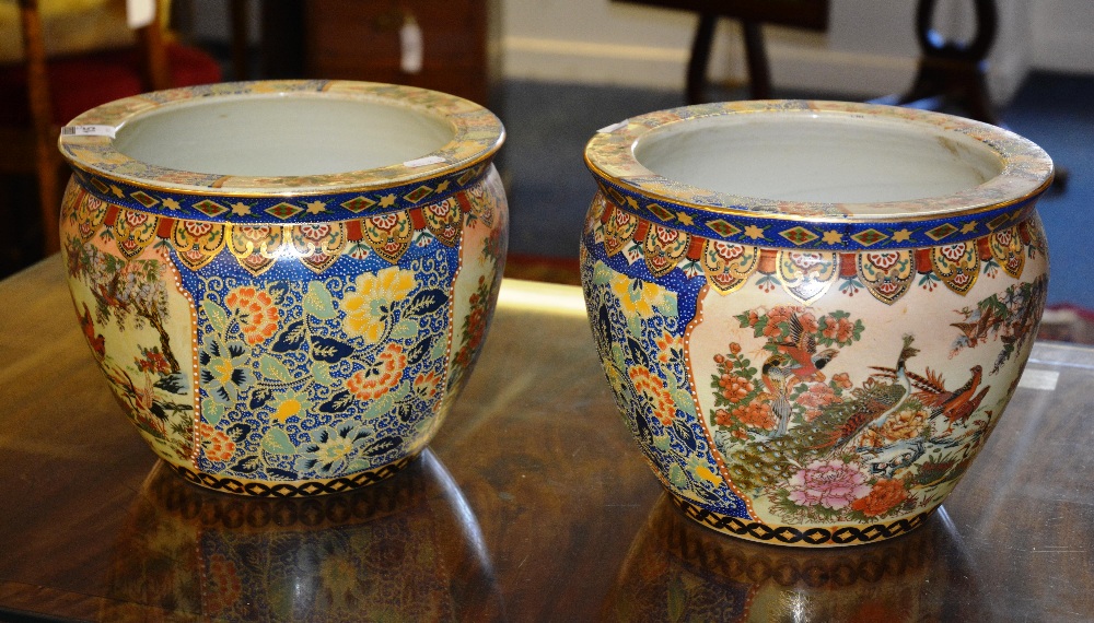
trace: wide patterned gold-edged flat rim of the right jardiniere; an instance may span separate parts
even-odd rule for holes
[[[698,126],[711,119],[744,122],[759,117],[854,120],[875,127],[952,133],[979,143],[999,158],[1002,169],[985,183],[956,192],[840,203],[779,200],[700,188],[650,171],[636,155],[642,139],[665,129],[687,131],[684,126]],[[734,216],[807,222],[908,222],[975,214],[1024,203],[1044,192],[1054,177],[1052,161],[1040,146],[997,126],[917,108],[818,99],[722,102],[647,113],[597,130],[585,145],[584,160],[595,178],[640,200]]]

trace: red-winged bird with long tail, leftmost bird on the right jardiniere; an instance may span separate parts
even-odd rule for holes
[[[794,386],[808,380],[824,381],[825,376],[821,369],[838,354],[835,349],[816,352],[816,337],[805,331],[796,315],[791,316],[789,322],[790,334],[787,341],[775,345],[775,354],[760,368],[764,385],[773,397],[771,411],[779,418],[773,437],[787,434],[792,408],[790,393]]]

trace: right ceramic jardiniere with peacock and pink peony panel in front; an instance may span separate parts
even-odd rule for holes
[[[635,117],[585,160],[590,321],[677,506],[777,544],[922,524],[1033,345],[1048,156],[934,113],[750,102]]]

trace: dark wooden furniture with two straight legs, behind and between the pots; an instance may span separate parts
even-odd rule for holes
[[[707,68],[714,38],[714,25],[720,17],[741,22],[748,69],[749,96],[771,97],[771,70],[764,45],[764,24],[792,26],[811,31],[828,28],[828,0],[613,0],[629,4],[645,4],[690,11],[699,15],[691,54],[687,66],[686,96],[688,104],[707,101]]]

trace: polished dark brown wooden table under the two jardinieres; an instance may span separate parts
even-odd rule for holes
[[[0,620],[1090,621],[1094,350],[1036,344],[920,530],[853,549],[683,519],[629,438],[578,289],[507,281],[431,450],[352,493],[183,483],[113,402],[57,257],[0,282]]]

